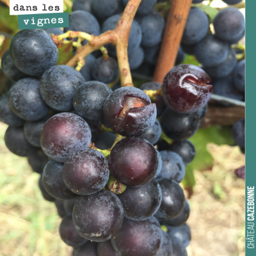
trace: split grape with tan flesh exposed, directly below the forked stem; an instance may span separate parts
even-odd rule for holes
[[[156,120],[156,104],[135,87],[122,87],[108,96],[104,103],[106,124],[122,136],[140,136]]]

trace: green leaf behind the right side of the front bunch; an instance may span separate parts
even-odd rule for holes
[[[182,184],[193,191],[195,186],[194,170],[211,170],[213,158],[207,151],[207,144],[215,143],[217,145],[233,145],[231,129],[225,126],[214,125],[207,129],[199,129],[196,134],[189,139],[196,148],[196,156],[193,161],[186,166],[186,175]]]

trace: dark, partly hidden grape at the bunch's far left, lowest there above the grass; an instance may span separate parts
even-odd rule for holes
[[[4,135],[4,142],[8,150],[17,156],[32,156],[38,150],[26,139],[23,127],[9,126]]]

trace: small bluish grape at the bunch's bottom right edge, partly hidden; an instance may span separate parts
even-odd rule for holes
[[[168,228],[167,233],[171,237],[171,239],[175,237],[179,239],[179,241],[183,243],[185,247],[189,245],[191,240],[191,232],[188,224],[185,223],[179,227],[167,226],[167,228]]]

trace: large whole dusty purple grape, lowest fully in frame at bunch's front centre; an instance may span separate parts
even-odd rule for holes
[[[73,209],[76,230],[84,238],[95,242],[113,237],[123,218],[124,209],[119,198],[106,189],[90,196],[79,196]]]

